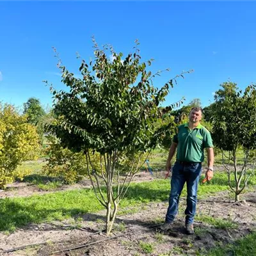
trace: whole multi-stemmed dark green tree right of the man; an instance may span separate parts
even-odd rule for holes
[[[256,86],[252,84],[238,90],[236,83],[221,84],[215,93],[212,106],[212,138],[223,155],[223,165],[228,173],[228,185],[239,200],[252,172],[247,166],[256,148]],[[243,149],[243,164],[237,164],[237,154]],[[254,166],[254,165],[253,165]],[[234,181],[232,180],[234,177]]]

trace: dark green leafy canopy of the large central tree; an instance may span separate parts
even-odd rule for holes
[[[117,54],[113,48],[100,50],[97,44],[94,46],[94,62],[88,65],[83,60],[79,68],[83,78],[60,66],[69,92],[52,91],[56,99],[54,113],[58,116],[52,131],[63,145],[77,151],[145,151],[156,145],[154,123],[163,114],[158,107],[175,79],[157,89],[152,79],[159,73],[147,71],[151,60],[140,63],[137,48],[122,60],[122,53]],[[107,50],[113,61],[108,60]]]

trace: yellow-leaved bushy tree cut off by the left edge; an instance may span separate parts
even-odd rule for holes
[[[0,104],[0,188],[13,181],[17,166],[37,148],[36,128],[28,124],[26,116],[20,116],[11,105]]]

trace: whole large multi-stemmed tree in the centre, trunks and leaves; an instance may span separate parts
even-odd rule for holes
[[[116,53],[113,47],[99,49],[93,42],[95,58],[89,64],[81,61],[82,78],[68,72],[60,61],[62,82],[69,89],[57,92],[51,87],[57,119],[49,128],[64,147],[84,152],[95,195],[107,210],[109,234],[118,204],[145,161],[141,157],[158,143],[161,129],[155,125],[157,119],[166,109],[176,106],[168,106],[164,111],[159,108],[176,77],[157,89],[152,79],[160,72],[152,74],[146,70],[152,60],[141,63],[138,44],[134,53],[122,60],[122,53]],[[113,61],[107,57],[109,51]],[[99,172],[91,161],[93,151],[100,154]],[[121,176],[125,159],[131,160],[129,171]]]

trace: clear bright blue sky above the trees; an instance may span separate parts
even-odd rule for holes
[[[0,100],[22,106],[29,97],[51,106],[43,80],[61,89],[52,47],[79,74],[79,52],[93,56],[91,36],[128,54],[136,39],[151,70],[170,68],[161,86],[182,70],[195,70],[170,91],[164,105],[182,97],[203,106],[228,79],[256,83],[256,1],[1,1]]]

